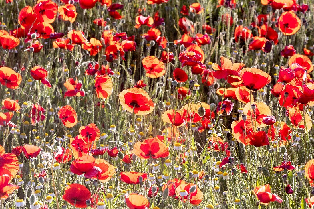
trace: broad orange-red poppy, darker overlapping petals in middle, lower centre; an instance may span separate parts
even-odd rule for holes
[[[169,148],[157,138],[148,138],[134,144],[133,153],[141,159],[165,158]]]

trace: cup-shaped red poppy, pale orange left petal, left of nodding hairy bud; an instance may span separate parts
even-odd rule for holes
[[[187,125],[186,116],[187,110],[167,110],[162,115],[162,120],[174,126],[182,126]]]

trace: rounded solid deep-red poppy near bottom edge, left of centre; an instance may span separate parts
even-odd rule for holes
[[[78,208],[86,208],[86,200],[91,197],[90,191],[80,184],[70,184],[64,189],[63,200]]]

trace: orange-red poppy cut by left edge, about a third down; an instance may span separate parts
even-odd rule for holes
[[[22,82],[22,77],[9,67],[0,67],[0,83],[7,88],[16,89]]]

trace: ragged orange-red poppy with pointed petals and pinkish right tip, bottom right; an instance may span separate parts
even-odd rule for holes
[[[263,205],[268,205],[269,202],[277,201],[281,203],[283,201],[278,195],[271,193],[269,184],[261,187],[257,186],[252,192]]]

